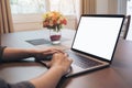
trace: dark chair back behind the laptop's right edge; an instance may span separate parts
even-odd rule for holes
[[[128,35],[128,31],[129,31],[129,28],[130,28],[130,22],[131,22],[131,15],[127,15],[125,21],[124,21],[124,33],[123,33],[123,38],[124,40],[127,38],[127,35]]]

